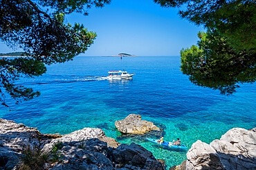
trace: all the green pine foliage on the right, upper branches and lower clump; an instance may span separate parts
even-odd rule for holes
[[[235,92],[238,83],[255,82],[254,0],[155,0],[163,7],[181,8],[179,15],[207,33],[199,46],[181,50],[181,70],[199,86]]]

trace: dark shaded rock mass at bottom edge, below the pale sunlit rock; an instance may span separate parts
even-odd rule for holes
[[[97,138],[83,142],[66,142],[57,150],[58,161],[52,169],[155,169],[162,170],[151,152],[136,144],[121,144],[107,147],[107,143]]]

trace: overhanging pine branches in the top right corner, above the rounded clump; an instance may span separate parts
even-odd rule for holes
[[[163,7],[182,7],[179,15],[216,29],[236,50],[255,53],[255,0],[154,0]]]

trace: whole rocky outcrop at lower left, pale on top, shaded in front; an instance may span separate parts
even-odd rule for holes
[[[136,144],[118,146],[102,129],[62,136],[0,120],[0,132],[0,169],[163,169],[151,152]]]

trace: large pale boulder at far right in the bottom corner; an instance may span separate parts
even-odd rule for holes
[[[230,129],[210,146],[217,151],[225,169],[256,169],[256,132]]]

